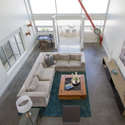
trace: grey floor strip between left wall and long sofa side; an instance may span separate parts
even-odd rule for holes
[[[39,55],[39,52],[39,48],[36,47],[12,80],[2,98],[0,98],[0,125],[18,125],[19,116],[16,110],[16,96]]]

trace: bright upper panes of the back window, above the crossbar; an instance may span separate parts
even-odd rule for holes
[[[82,0],[88,13],[106,13],[109,0]],[[55,14],[55,0],[30,0],[33,14]],[[78,0],[56,0],[57,13],[78,14],[81,7]]]

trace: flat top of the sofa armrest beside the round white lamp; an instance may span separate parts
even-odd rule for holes
[[[27,95],[29,97],[48,97],[47,92],[23,92],[20,96]]]

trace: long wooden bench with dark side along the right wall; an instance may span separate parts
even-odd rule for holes
[[[120,112],[123,116],[125,116],[125,79],[115,63],[115,60],[109,60],[107,57],[104,57],[102,63],[104,65],[107,77],[112,85],[113,93]],[[114,70],[117,71],[116,74],[113,72]]]

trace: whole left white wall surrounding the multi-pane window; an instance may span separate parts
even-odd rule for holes
[[[27,23],[29,23],[29,20],[24,0],[0,0],[0,44],[4,38],[19,27],[23,27],[25,29]],[[26,46],[26,52],[14,64],[9,72],[5,71],[2,63],[0,62],[0,96],[3,94],[35,46],[35,35],[33,34],[32,37],[27,37],[25,35],[25,30],[24,44]]]

